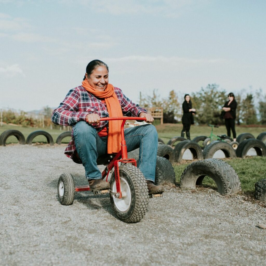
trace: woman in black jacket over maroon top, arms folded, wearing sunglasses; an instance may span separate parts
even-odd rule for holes
[[[227,136],[231,137],[231,129],[232,129],[234,141],[236,141],[236,132],[235,132],[236,106],[237,102],[235,100],[235,95],[234,93],[230,92],[228,94],[228,101],[223,106],[223,111],[225,111],[223,118],[225,119]]]

